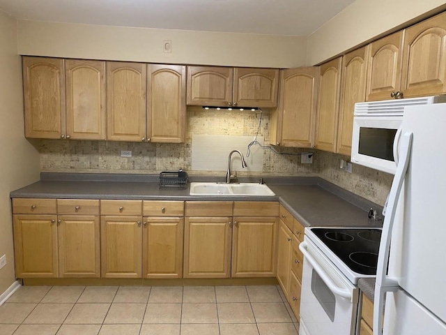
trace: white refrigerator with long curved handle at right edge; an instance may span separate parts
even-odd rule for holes
[[[404,108],[394,156],[374,335],[446,335],[446,103]]]

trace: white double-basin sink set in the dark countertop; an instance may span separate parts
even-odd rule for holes
[[[240,184],[218,184],[218,183],[190,183],[190,195],[275,195],[265,184],[240,183]]]

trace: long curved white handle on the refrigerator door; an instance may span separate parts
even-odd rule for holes
[[[390,239],[392,238],[392,229],[397,212],[398,200],[401,195],[404,179],[410,161],[412,151],[413,133],[405,133],[401,137],[401,161],[397,165],[397,172],[390,188],[389,202],[387,204],[387,213],[384,218],[383,232],[378,251],[378,265],[376,269],[375,284],[375,304],[374,304],[374,335],[383,334],[383,306],[386,292],[395,292],[398,288],[396,278],[387,276],[387,265],[389,263]]]

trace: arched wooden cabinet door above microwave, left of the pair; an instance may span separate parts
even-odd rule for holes
[[[401,91],[402,48],[403,31],[369,45],[367,101],[392,99],[392,92]]]

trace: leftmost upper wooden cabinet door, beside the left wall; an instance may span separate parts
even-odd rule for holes
[[[23,57],[25,137],[65,137],[63,59]]]

